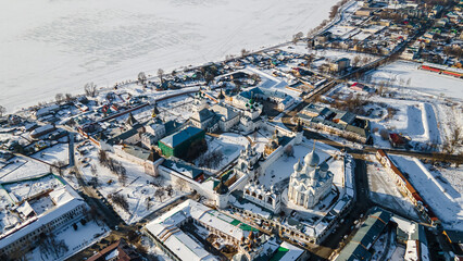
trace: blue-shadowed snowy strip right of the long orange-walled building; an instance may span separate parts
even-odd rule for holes
[[[390,158],[402,172],[409,174],[411,183],[436,212],[443,226],[463,231],[463,197],[454,186],[459,181],[448,181],[437,171],[429,172],[429,166],[415,158],[400,156]]]

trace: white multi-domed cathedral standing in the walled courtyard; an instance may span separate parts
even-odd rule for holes
[[[312,209],[330,190],[333,173],[326,162],[318,165],[320,157],[315,148],[304,157],[303,163],[295,164],[289,178],[288,198],[293,203]]]

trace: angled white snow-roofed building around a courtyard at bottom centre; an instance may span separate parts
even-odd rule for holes
[[[215,244],[235,246],[238,252],[233,260],[271,260],[281,254],[279,250],[285,252],[279,260],[299,261],[305,258],[304,250],[285,243],[280,245],[275,238],[190,199],[148,223],[143,233],[173,260],[218,260],[182,231],[185,225],[205,228],[209,234],[220,238]]]

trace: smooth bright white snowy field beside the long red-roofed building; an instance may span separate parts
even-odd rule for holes
[[[445,96],[463,101],[463,80],[452,76],[440,75],[433,72],[418,70],[420,63],[398,61],[379,67],[370,75],[372,82],[389,82],[392,86],[403,91]],[[406,82],[410,80],[410,85]],[[400,85],[400,82],[403,84]]]

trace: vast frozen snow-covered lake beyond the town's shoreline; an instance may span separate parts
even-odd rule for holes
[[[290,40],[338,0],[0,1],[0,104],[9,112]]]

